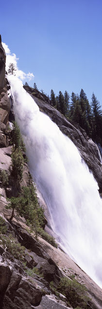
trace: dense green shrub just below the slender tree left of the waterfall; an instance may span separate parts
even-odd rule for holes
[[[12,151],[12,176],[15,179],[15,182],[19,183],[23,175],[23,164],[24,159],[22,153],[19,149]]]

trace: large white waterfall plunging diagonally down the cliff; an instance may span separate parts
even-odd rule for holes
[[[29,167],[66,253],[102,287],[102,200],[76,146],[39,111],[22,82],[10,76],[17,123]]]

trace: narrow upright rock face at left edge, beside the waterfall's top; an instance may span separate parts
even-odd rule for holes
[[[5,62],[6,62],[6,54],[2,47],[1,35],[0,35],[0,89],[2,89],[5,85]]]

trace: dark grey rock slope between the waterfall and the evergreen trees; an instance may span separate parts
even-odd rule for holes
[[[56,123],[60,130],[77,146],[82,159],[85,160],[89,170],[93,172],[101,193],[102,164],[100,163],[96,144],[86,135],[85,130],[77,124],[69,122],[57,109],[53,108],[49,104],[49,99],[45,95],[28,86],[24,86],[24,89],[32,95],[39,109],[46,113],[51,120]]]

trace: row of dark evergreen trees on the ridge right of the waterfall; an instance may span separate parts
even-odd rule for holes
[[[89,103],[83,89],[80,91],[80,95],[72,92],[71,96],[68,91],[65,91],[64,94],[59,91],[59,95],[55,96],[51,89],[50,104],[69,121],[80,125],[89,137],[102,145],[102,110],[94,93],[91,103]]]

